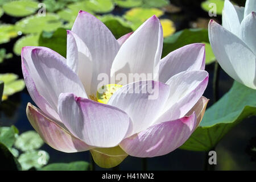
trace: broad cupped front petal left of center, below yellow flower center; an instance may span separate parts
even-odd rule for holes
[[[117,146],[129,132],[124,111],[71,93],[60,94],[58,111],[69,131],[91,146]]]

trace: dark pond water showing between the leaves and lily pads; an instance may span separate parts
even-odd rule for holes
[[[114,14],[123,14],[123,10],[117,9]],[[174,20],[177,30],[188,28],[191,21],[196,20],[198,17],[205,17],[205,12],[200,9],[185,9],[184,13],[165,15],[167,18]],[[218,19],[218,18],[217,18]],[[1,20],[4,22],[14,23],[17,19],[4,15]],[[6,44],[1,44],[1,47],[7,49],[7,52],[11,52],[14,42],[18,38],[11,40]],[[213,69],[214,64],[207,65],[206,71],[209,72],[209,85],[205,91],[204,96],[210,99],[208,107],[213,104]],[[13,59],[6,60],[1,64],[0,73],[15,73],[22,77],[20,67],[20,57],[14,56]],[[220,82],[219,82],[219,94],[223,96],[231,88],[233,83],[230,78],[222,69],[220,69]],[[28,122],[26,116],[27,103],[34,102],[31,100],[26,88],[13,96],[9,97],[7,101],[3,101],[0,106],[0,126],[15,125],[20,133],[28,130],[34,130]],[[232,107],[232,106],[230,106]],[[230,131],[224,139],[218,144],[216,148],[217,152],[217,166],[216,169],[224,170],[255,170],[256,163],[251,160],[251,156],[247,154],[246,148],[250,144],[250,139],[255,136],[256,129],[256,117],[245,119],[238,124],[232,131]],[[255,143],[254,143],[255,145]],[[56,151],[44,144],[42,150],[46,150],[49,153],[49,163],[56,162],[73,162],[76,160],[85,160],[89,162],[89,152],[79,152],[74,154],[66,154],[64,152]],[[150,170],[202,170],[204,169],[205,152],[193,152],[177,149],[168,155],[151,158],[147,160],[147,168]],[[96,166],[97,170],[103,170]],[[119,169],[142,169],[142,160],[128,156],[123,163],[119,166]]]

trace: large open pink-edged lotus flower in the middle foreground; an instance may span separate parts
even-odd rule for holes
[[[127,155],[168,154],[180,147],[203,118],[208,100],[204,44],[191,44],[160,60],[163,31],[152,16],[133,34],[116,40],[93,15],[80,11],[67,31],[67,59],[46,47],[22,49],[28,92],[27,117],[49,146],[87,151],[101,167],[117,166]],[[97,102],[97,76],[159,73],[159,95],[127,93],[148,81],[122,85],[107,104]],[[156,74],[157,75],[157,74]]]

